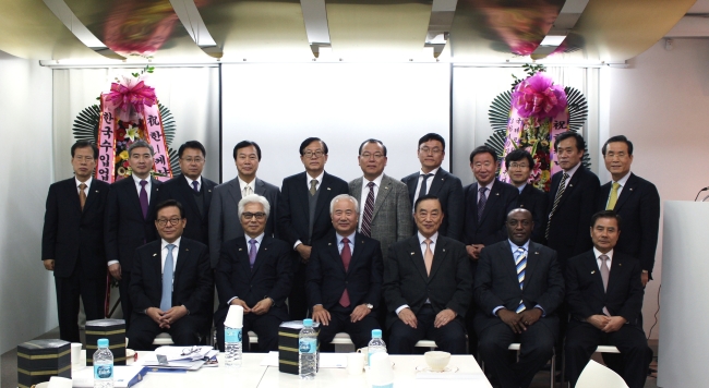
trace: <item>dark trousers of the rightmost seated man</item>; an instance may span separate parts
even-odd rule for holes
[[[572,320],[566,332],[566,376],[576,385],[578,376],[591,359],[599,344],[611,344],[621,351],[623,371],[616,371],[629,388],[642,388],[648,376],[652,351],[648,347],[642,329],[635,325],[623,325],[614,332],[603,332],[593,325]]]

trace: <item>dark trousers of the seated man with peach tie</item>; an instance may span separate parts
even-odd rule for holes
[[[435,313],[430,304],[424,304],[416,318],[417,328],[397,318],[392,325],[388,351],[390,354],[413,354],[413,345],[422,340],[434,340],[438,350],[450,354],[466,353],[466,328],[462,319],[457,318],[447,325],[435,328]]]

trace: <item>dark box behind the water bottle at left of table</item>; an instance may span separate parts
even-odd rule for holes
[[[96,319],[86,322],[86,366],[94,365],[98,339],[108,338],[113,365],[125,365],[125,320]]]

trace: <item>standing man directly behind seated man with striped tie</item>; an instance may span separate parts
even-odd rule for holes
[[[546,206],[549,198],[546,193],[528,184],[529,175],[534,167],[534,159],[525,149],[515,149],[505,157],[505,167],[509,174],[512,185],[519,190],[517,207],[531,211],[534,220],[531,240],[536,243],[544,243],[544,231],[546,230]]]

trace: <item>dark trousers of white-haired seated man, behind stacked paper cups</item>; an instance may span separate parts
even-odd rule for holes
[[[255,315],[253,313],[243,316],[243,328],[241,329],[241,349],[243,352],[252,352],[249,341],[249,331],[259,336],[259,351],[278,351],[278,327],[283,319],[273,314]],[[216,323],[215,323],[216,324]],[[219,351],[224,352],[224,322],[217,326],[217,344]]]

